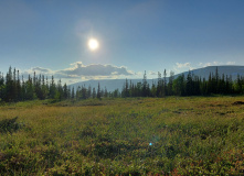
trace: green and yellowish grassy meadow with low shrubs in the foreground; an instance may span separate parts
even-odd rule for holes
[[[2,105],[0,175],[244,174],[236,101],[244,97]]]

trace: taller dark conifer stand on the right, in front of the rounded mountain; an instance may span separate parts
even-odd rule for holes
[[[232,76],[220,75],[218,67],[215,73],[210,73],[209,78],[201,78],[189,70],[174,78],[170,72],[167,78],[165,69],[163,77],[158,72],[158,80],[149,86],[145,72],[141,82],[132,84],[126,79],[121,90],[121,97],[166,97],[166,96],[210,96],[210,95],[240,95],[244,94],[244,77],[237,75],[235,80]]]

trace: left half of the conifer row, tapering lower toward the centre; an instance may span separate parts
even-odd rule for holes
[[[54,99],[56,101],[61,100],[82,100],[88,98],[98,98],[102,97],[120,97],[119,90],[108,92],[106,87],[102,89],[99,84],[97,89],[88,88],[83,85],[82,87],[70,87],[66,84],[62,85],[61,79],[59,81],[54,80],[52,76],[51,79],[44,75],[29,75],[28,79],[23,78],[23,75],[20,76],[19,70],[12,67],[9,67],[9,72],[4,76],[3,73],[0,73],[0,101],[6,102],[18,102],[25,100],[45,100]]]

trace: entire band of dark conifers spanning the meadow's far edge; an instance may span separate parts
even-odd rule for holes
[[[20,76],[19,70],[9,68],[6,74],[0,74],[0,100],[6,102],[17,102],[33,99],[55,99],[55,100],[82,100],[88,98],[117,98],[117,97],[166,97],[166,96],[210,96],[210,95],[240,95],[244,92],[244,77],[237,75],[235,80],[229,75],[210,73],[209,78],[194,76],[190,70],[187,77],[182,74],[174,78],[170,72],[169,78],[165,69],[163,76],[158,72],[158,79],[150,86],[145,72],[141,82],[132,84],[126,79],[121,91],[116,89],[107,91],[100,88],[88,86],[70,87],[62,85],[62,80],[54,80],[44,75],[29,75],[28,78]]]

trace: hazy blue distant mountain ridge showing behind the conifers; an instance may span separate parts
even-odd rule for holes
[[[191,74],[199,76],[201,78],[209,78],[210,73],[215,74],[218,67],[218,73],[219,76],[222,77],[222,74],[224,75],[229,75],[232,76],[232,79],[236,79],[237,75],[240,76],[244,76],[244,66],[208,66],[208,67],[203,67],[203,68],[198,68],[198,69],[192,69],[190,70]],[[174,75],[174,78],[177,78],[180,75],[184,75],[185,77],[188,76],[189,72],[183,72],[181,74],[177,74]],[[158,78],[153,78],[153,79],[147,79],[148,84],[151,86],[152,82],[155,81],[157,84]],[[167,78],[168,80],[168,78]],[[137,84],[137,82],[141,82],[141,79],[128,79],[128,82],[130,84],[130,81],[132,84]],[[97,89],[98,82],[100,85],[100,88],[104,89],[105,87],[107,88],[108,91],[114,91],[115,89],[121,90],[123,86],[126,82],[126,79],[100,79],[100,80],[86,80],[86,81],[79,81],[76,84],[72,84],[70,85],[71,87],[74,87],[75,89],[79,86],[86,86],[86,88],[88,86],[91,86],[92,88],[95,87]]]

